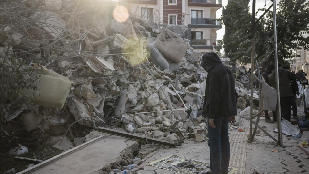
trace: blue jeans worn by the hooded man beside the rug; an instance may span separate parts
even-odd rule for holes
[[[208,119],[209,120],[209,119]],[[216,118],[212,128],[207,120],[210,170],[214,174],[228,173],[230,163],[229,119]]]

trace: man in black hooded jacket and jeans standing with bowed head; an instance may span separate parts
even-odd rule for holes
[[[228,173],[230,163],[228,127],[229,121],[234,123],[237,115],[238,96],[235,91],[235,78],[214,52],[204,54],[201,65],[208,72],[203,116],[208,117],[210,170],[214,174]]]

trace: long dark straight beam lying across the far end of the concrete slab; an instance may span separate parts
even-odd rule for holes
[[[123,131],[109,129],[109,128],[100,127],[100,126],[98,128],[95,128],[94,130],[99,131],[99,132],[104,132],[107,134],[118,135],[118,136],[125,137],[125,138],[132,138],[132,139],[137,139],[137,140],[144,141],[144,142],[155,143],[155,144],[159,144],[163,146],[169,146],[169,147],[180,146],[180,144],[173,144],[165,140],[160,140],[157,138],[151,138],[151,137],[137,135],[137,134],[131,134],[128,132],[123,132]]]

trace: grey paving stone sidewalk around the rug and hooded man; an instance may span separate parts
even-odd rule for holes
[[[249,121],[242,121],[241,127],[248,130]],[[309,159],[301,149],[296,146],[282,148],[276,145],[251,144],[247,143],[247,132],[238,132],[230,130],[231,156],[230,167],[237,168],[236,174],[251,174],[254,171],[262,174],[274,173],[305,173],[309,174]],[[272,152],[271,150],[279,152]],[[184,158],[193,159],[209,163],[210,151],[207,141],[204,142],[187,142],[176,148],[164,149],[147,155],[143,163],[138,167],[138,174],[173,174],[165,169],[156,168],[149,162],[161,159],[166,156],[179,155]],[[137,169],[138,170],[138,169]]]

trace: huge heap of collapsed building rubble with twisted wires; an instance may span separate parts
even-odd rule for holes
[[[207,72],[190,47],[190,29],[143,21],[127,8],[104,0],[1,2],[0,61],[22,60],[37,74],[38,90],[20,89],[32,104],[10,106],[5,116],[0,172],[28,167],[13,160],[17,150],[8,155],[11,148],[28,147],[22,157],[46,160],[99,137],[98,126],[175,146],[205,140]],[[250,117],[247,88],[239,79],[235,88],[239,116],[231,129]],[[135,155],[157,148],[140,141]]]

